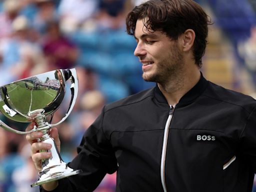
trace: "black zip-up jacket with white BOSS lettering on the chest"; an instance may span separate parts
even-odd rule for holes
[[[93,191],[116,170],[116,191],[251,191],[255,100],[201,76],[171,107],[157,86],[107,104],[69,163],[83,172],[56,191]]]

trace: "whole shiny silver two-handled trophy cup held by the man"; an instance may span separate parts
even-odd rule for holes
[[[46,117],[53,115],[61,104],[66,87],[66,80],[70,80],[71,99],[65,116],[57,123],[46,122]],[[42,160],[42,169],[39,179],[31,184],[37,186],[53,180],[58,180],[77,174],[81,170],[74,170],[61,159],[53,139],[48,130],[63,122],[70,114],[77,96],[77,76],[74,68],[58,69],[0,86],[0,111],[9,119],[19,122],[35,122],[30,131],[19,131],[11,128],[0,120],[0,126],[5,130],[18,134],[27,134],[32,131],[41,131],[43,136],[38,142],[52,145],[52,156]],[[52,117],[52,116],[51,116]]]

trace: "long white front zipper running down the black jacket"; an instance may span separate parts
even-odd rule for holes
[[[167,140],[168,140],[168,131],[169,131],[169,125],[170,125],[170,121],[172,118],[172,114],[173,114],[173,110],[174,110],[175,105],[170,105],[169,107],[169,112],[168,112],[168,118],[165,124],[165,128],[164,128],[164,135],[163,135],[163,143],[162,143],[162,156],[161,156],[161,182],[162,182],[162,187],[163,187],[163,191],[167,192],[166,189],[166,184],[165,184],[165,155],[166,155],[166,147],[167,147]]]

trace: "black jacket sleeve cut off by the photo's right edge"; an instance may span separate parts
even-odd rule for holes
[[[239,141],[239,153],[256,173],[256,107],[248,115]]]

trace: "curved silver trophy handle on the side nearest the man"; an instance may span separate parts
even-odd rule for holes
[[[49,127],[56,126],[56,125],[60,124],[68,117],[68,115],[70,114],[70,112],[74,106],[74,103],[75,103],[75,100],[76,100],[76,97],[78,94],[78,79],[77,79],[77,74],[76,74],[75,68],[67,69],[66,71],[67,71],[67,73],[68,73],[67,75],[71,81],[71,85],[70,85],[71,99],[70,99],[69,107],[67,109],[67,112],[65,113],[65,116],[59,122],[57,122],[55,124],[50,124],[48,122],[45,122],[46,125],[48,125]],[[69,73],[69,71],[71,74]]]

